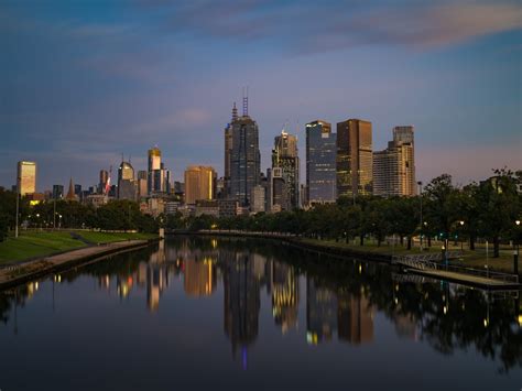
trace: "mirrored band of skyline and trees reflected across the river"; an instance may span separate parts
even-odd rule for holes
[[[97,290],[121,301],[144,292],[151,313],[163,311],[162,296],[177,281],[191,300],[222,295],[222,329],[231,356],[243,369],[255,350],[262,312],[270,311],[281,335],[300,335],[303,344],[338,341],[366,348],[382,343],[389,327],[400,340],[429,345],[453,355],[474,347],[509,371],[522,366],[521,305],[518,292],[491,293],[396,274],[388,267],[325,257],[251,240],[176,239],[61,275],[50,283],[94,276]],[[46,283],[46,282],[40,282]],[[39,282],[0,294],[0,319],[19,333],[19,312],[39,295]],[[300,293],[305,303],[300,302]],[[220,297],[218,295],[218,297]],[[262,307],[268,297],[270,308]],[[54,300],[54,289],[53,289]],[[54,302],[53,302],[54,303]],[[170,311],[165,307],[164,311]],[[385,323],[378,324],[381,316]],[[219,322],[219,319],[216,319]]]

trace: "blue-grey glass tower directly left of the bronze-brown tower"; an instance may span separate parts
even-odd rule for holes
[[[306,189],[309,205],[336,200],[336,134],[326,121],[306,123]]]

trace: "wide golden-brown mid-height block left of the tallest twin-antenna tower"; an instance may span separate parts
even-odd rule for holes
[[[216,198],[217,174],[213,167],[189,165],[185,171],[185,204],[194,205],[198,199]]]

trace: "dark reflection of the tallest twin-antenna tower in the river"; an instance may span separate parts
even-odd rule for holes
[[[241,365],[248,367],[248,347],[258,337],[260,309],[261,269],[254,265],[249,252],[221,252],[224,267],[224,322],[225,334],[232,345],[236,359],[238,347],[241,349]]]

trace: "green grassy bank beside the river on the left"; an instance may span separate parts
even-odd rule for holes
[[[120,233],[120,232],[95,232],[75,231],[86,241],[95,243],[108,243],[121,240],[153,239],[152,233]],[[80,239],[75,239],[70,231],[22,231],[18,239],[9,237],[0,242],[0,263],[9,261],[23,261],[35,257],[45,257],[51,253],[73,250],[88,246]]]

